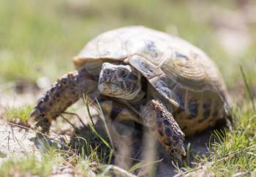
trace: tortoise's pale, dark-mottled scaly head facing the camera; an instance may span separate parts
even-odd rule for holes
[[[141,90],[140,72],[125,63],[103,63],[98,89],[103,95],[132,100]]]

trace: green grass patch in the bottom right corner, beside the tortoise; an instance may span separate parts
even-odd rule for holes
[[[193,168],[186,173],[206,166],[208,172],[217,176],[233,176],[238,173],[252,175],[256,169],[256,114],[247,110],[236,114],[238,120],[234,130],[215,132],[217,141],[211,143],[207,157],[198,157]]]

